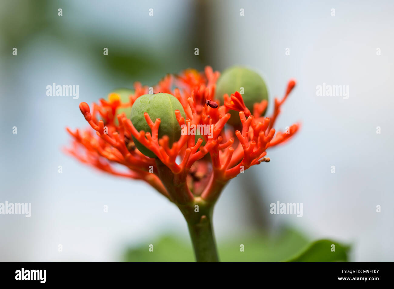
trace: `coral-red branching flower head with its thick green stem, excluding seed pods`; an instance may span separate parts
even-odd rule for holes
[[[91,108],[80,103],[80,110],[90,127],[83,131],[67,131],[73,138],[67,152],[81,162],[113,175],[143,180],[158,192],[177,204],[188,222],[197,261],[216,261],[217,253],[212,234],[212,209],[227,182],[240,172],[260,162],[269,162],[267,149],[291,138],[298,130],[294,124],[286,133],[273,128],[281,106],[295,86],[290,80],[284,97],[275,99],[271,117],[262,116],[267,101],[255,103],[253,112],[245,107],[242,95],[234,92],[224,96],[224,103],[215,99],[216,81],[219,72],[207,66],[204,73],[184,70],[179,75],[167,75],[154,92],[169,93],[181,103],[186,119],[175,110],[178,124],[212,125],[212,138],[206,135],[182,134],[172,147],[168,136],[158,139],[160,119],[152,120],[145,112],[145,120],[151,133],[137,131],[130,116],[117,114],[122,108],[131,107],[136,99],[149,92],[148,87],[134,84],[134,93],[127,102],[117,94],[108,100],[100,99]],[[173,89],[173,86],[177,88]],[[217,108],[206,105],[206,101],[218,104]],[[227,126],[229,110],[239,111],[242,126],[239,130]],[[138,151],[132,136],[151,150],[157,158],[149,158]],[[121,164],[126,171],[115,169]],[[195,206],[199,206],[195,212]],[[205,229],[202,229],[205,228]],[[206,237],[204,232],[211,232]],[[208,234],[209,235],[209,234]],[[214,247],[213,249],[207,249]]]

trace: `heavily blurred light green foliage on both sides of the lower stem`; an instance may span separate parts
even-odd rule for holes
[[[223,262],[283,261],[289,256],[294,256],[307,243],[307,239],[301,233],[290,228],[285,228],[273,237],[262,234],[240,235],[219,242],[219,258]],[[149,252],[148,243],[127,249],[124,261],[194,261],[191,243],[176,236],[163,236],[153,245],[153,252]],[[241,245],[244,245],[244,252],[240,251]]]

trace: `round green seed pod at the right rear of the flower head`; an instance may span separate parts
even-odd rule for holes
[[[242,93],[241,87],[244,89],[242,94],[243,102],[246,107],[253,113],[253,104],[259,103],[266,99],[268,101],[268,92],[264,80],[256,72],[248,68],[233,66],[226,69],[220,76],[216,84],[216,99],[220,104],[224,103],[224,94],[231,96],[234,92]],[[228,124],[238,126],[241,121],[238,111],[230,110],[231,118]],[[265,112],[264,112],[265,113]]]

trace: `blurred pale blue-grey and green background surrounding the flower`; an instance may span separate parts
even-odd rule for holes
[[[271,162],[223,191],[214,214],[221,260],[281,261],[330,238],[351,245],[350,261],[393,261],[394,3],[330,2],[1,1],[0,202],[32,203],[32,216],[0,215],[0,261],[192,261],[175,205],[61,149],[65,127],[87,125],[80,102],[206,65],[258,71],[269,111],[297,79],[276,127],[302,123],[268,151]],[[79,85],[79,99],[46,96],[54,82]],[[349,98],[316,96],[323,83],[349,85]],[[303,217],[269,214],[277,201],[303,203]],[[149,244],[158,253],[147,257]]]

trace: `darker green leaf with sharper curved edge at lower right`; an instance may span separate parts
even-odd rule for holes
[[[333,250],[335,245],[335,251]],[[297,254],[289,262],[335,262],[348,261],[350,247],[332,240],[318,240]]]

